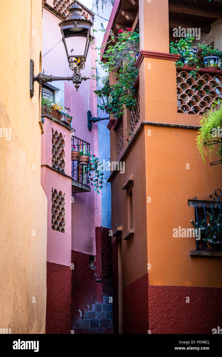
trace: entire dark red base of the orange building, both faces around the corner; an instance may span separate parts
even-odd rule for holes
[[[222,328],[221,287],[154,286],[148,279],[145,274],[123,288],[123,333],[212,334]]]

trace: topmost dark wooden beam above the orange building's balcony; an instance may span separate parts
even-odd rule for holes
[[[183,4],[182,2],[169,1],[169,11],[180,12],[181,14],[189,14],[194,16],[212,17],[222,19],[222,11],[211,8],[204,8],[202,5]]]

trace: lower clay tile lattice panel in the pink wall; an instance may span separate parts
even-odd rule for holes
[[[52,188],[52,229],[65,233],[65,193],[59,193]]]

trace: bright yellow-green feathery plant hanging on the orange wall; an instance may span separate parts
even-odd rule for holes
[[[221,101],[216,100],[211,105],[211,109],[200,119],[201,128],[197,132],[197,147],[205,162],[208,152],[204,149],[208,146],[211,159],[212,154],[216,154],[222,159],[222,145],[220,144],[222,132],[222,108]],[[218,128],[220,129],[218,132]],[[215,133],[215,134],[214,134]],[[219,145],[217,145],[219,144]]]

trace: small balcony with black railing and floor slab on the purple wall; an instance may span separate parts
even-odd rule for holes
[[[90,151],[90,144],[76,136],[72,136],[71,145],[76,146],[76,151]],[[91,188],[87,182],[88,171],[86,165],[79,164],[78,160],[72,161],[72,193],[90,192]]]

